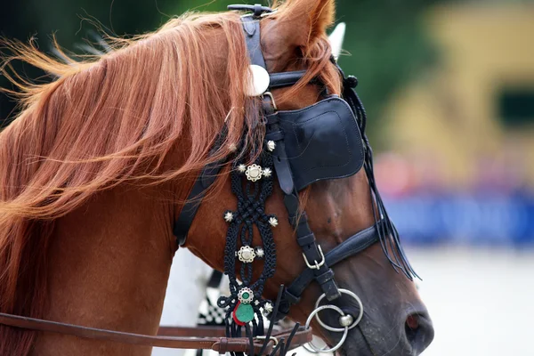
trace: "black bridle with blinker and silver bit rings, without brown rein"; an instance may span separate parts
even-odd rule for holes
[[[241,17],[247,42],[247,51],[251,65],[259,66],[266,71],[267,69],[260,44],[260,20],[263,16],[268,15],[271,12],[271,9],[263,7],[259,4],[232,5],[229,6],[229,9],[254,12],[253,14],[248,14]],[[227,233],[227,248],[225,250],[224,272],[231,279],[231,295],[228,297],[222,297],[219,300],[219,307],[228,308],[228,312],[226,314],[228,336],[240,335],[240,328],[236,328],[235,325],[236,323],[239,324],[239,318],[236,318],[236,315],[239,312],[239,303],[237,302],[239,293],[242,293],[243,290],[246,290],[247,294],[254,294],[255,298],[261,298],[261,292],[263,291],[263,283],[260,283],[260,286],[257,286],[257,281],[253,283],[253,280],[250,278],[252,271],[251,264],[255,260],[255,255],[253,255],[253,253],[254,251],[257,251],[258,248],[252,247],[253,225],[255,225],[260,231],[260,235],[263,240],[263,247],[267,247],[265,248],[265,251],[263,251],[263,248],[260,247],[262,251],[261,257],[263,260],[265,260],[265,264],[272,264],[272,261],[268,261],[268,258],[270,257],[268,254],[268,249],[272,245],[271,229],[265,229],[265,222],[274,221],[272,226],[275,228],[278,224],[278,220],[276,216],[268,215],[263,210],[263,203],[271,194],[271,182],[269,181],[271,181],[272,171],[274,171],[272,172],[273,174],[276,173],[279,187],[284,193],[284,204],[287,209],[289,223],[291,223],[295,229],[295,236],[298,245],[303,249],[303,260],[307,266],[307,269],[305,269],[301,275],[289,285],[289,287],[280,289],[279,300],[277,303],[275,303],[276,312],[271,313],[271,311],[267,311],[266,314],[271,314],[271,321],[282,319],[289,312],[291,305],[299,303],[304,289],[308,287],[313,280],[315,280],[319,283],[323,294],[317,301],[315,310],[307,320],[305,328],[309,327],[312,318],[315,316],[323,328],[333,332],[344,333],[341,341],[335,347],[329,350],[320,350],[311,344],[309,347],[310,351],[335,351],[344,343],[344,339],[347,336],[348,330],[356,327],[363,316],[363,305],[358,295],[355,295],[349,290],[340,289],[337,287],[334,272],[331,269],[331,267],[336,263],[339,263],[352,255],[360,253],[376,242],[380,242],[383,247],[384,254],[392,263],[393,268],[395,268],[397,271],[404,272],[409,279],[412,279],[413,276],[417,276],[415,271],[413,271],[411,268],[406,255],[404,255],[398,233],[390,221],[388,214],[385,211],[382,199],[380,198],[378,190],[376,189],[376,182],[373,173],[372,150],[365,135],[366,113],[358,95],[353,91],[353,88],[357,85],[357,80],[355,77],[344,77],[343,70],[337,66],[336,61],[333,62],[335,63],[340,76],[343,78],[344,99],[340,99],[336,96],[329,96],[324,101],[320,101],[319,103],[304,109],[294,111],[278,111],[272,94],[269,91],[262,93],[260,95],[262,107],[260,109],[261,113],[258,117],[258,121],[263,122],[263,125],[265,125],[266,134],[264,137],[263,154],[260,156],[260,158],[255,158],[254,162],[248,166],[242,163],[239,164],[239,162],[237,162],[239,157],[232,160],[232,191],[238,198],[238,210],[229,210],[224,215],[225,220],[227,223],[229,223],[229,231]],[[268,85],[268,90],[295,85],[303,78],[305,73],[305,70],[269,73],[270,82]],[[341,168],[336,166],[328,166],[326,169],[323,169],[325,167],[322,167],[318,165],[317,162],[314,162],[314,160],[317,159],[317,155],[314,156],[312,153],[306,157],[306,152],[304,150],[295,149],[297,146],[300,147],[302,144],[303,146],[306,146],[305,150],[312,151],[313,144],[311,143],[310,145],[306,145],[306,143],[310,142],[297,142],[300,139],[296,139],[295,141],[295,139],[292,138],[289,133],[292,130],[296,131],[295,125],[303,125],[303,127],[298,128],[300,131],[298,134],[295,134],[295,136],[306,136],[306,130],[311,131],[318,129],[317,126],[306,128],[305,125],[308,125],[307,122],[315,120],[317,117],[321,117],[322,115],[328,115],[330,112],[336,113],[336,115],[340,117],[341,121],[343,121],[342,117],[351,117],[349,121],[352,122],[354,127],[350,127],[351,122],[347,124],[346,120],[343,121],[342,124],[337,125],[341,126],[337,131],[341,130],[344,134],[351,134],[351,137],[346,137],[347,140],[352,140],[352,142],[347,142],[348,150],[344,152],[343,148],[339,146],[334,148],[330,147],[330,150],[342,150],[345,156],[351,158],[348,159],[348,162],[345,163]],[[254,113],[251,115],[254,115]],[[321,117],[321,119],[324,119],[324,117]],[[327,124],[325,123],[322,125]],[[215,142],[214,150],[219,150],[221,148],[221,144],[223,144],[222,142],[224,141],[224,133],[225,131],[223,130],[223,133],[220,135],[217,142]],[[312,134],[316,134],[316,132],[312,132]],[[310,136],[312,136],[312,134],[310,134]],[[325,135],[328,136],[328,133]],[[328,145],[336,146],[335,140],[328,142]],[[243,158],[240,159],[243,160]],[[202,197],[209,186],[214,182],[216,175],[219,174],[219,170],[224,163],[225,162],[216,162],[214,165],[206,166],[203,172],[198,176],[198,180],[195,182],[193,190],[191,190],[190,197],[188,199],[189,203],[183,206],[182,213],[179,215],[179,218],[174,225],[174,234],[178,239],[179,245],[182,246],[187,239],[187,233],[193,222],[198,206],[200,205],[198,198]],[[308,224],[307,215],[301,209],[298,191],[303,190],[303,188],[312,182],[342,178],[356,174],[358,171],[360,171],[361,167],[364,168],[367,174],[370,186],[370,194],[376,202],[378,211],[378,215],[375,216],[376,223],[368,229],[360,231],[350,238],[345,239],[343,243],[328,251],[327,254],[324,254],[320,245],[315,239],[312,229]],[[307,170],[307,168],[310,169]],[[263,176],[262,174],[259,174],[259,177],[257,177],[257,181],[266,180],[267,182],[264,182],[262,185],[260,182],[252,180],[249,176],[249,172],[253,171],[259,173],[267,172],[268,174],[263,174]],[[303,174],[302,172],[313,173]],[[247,174],[247,177],[244,177],[244,174]],[[243,185],[245,185],[246,188],[243,188]],[[244,190],[254,190],[259,191],[260,193],[245,194]],[[248,210],[245,210],[245,208]],[[239,226],[243,226],[244,230],[240,232],[236,231]],[[243,237],[243,235],[247,235],[247,229],[249,229],[250,232],[248,233],[248,236]],[[240,238],[242,243],[242,246],[239,248],[238,244],[236,243],[237,238]],[[392,253],[389,251],[392,251]],[[233,255],[234,253],[236,254],[235,257]],[[242,258],[243,254],[247,254],[249,257],[252,255],[252,257],[249,259]],[[271,252],[271,254],[274,255],[272,258],[275,258],[276,253]],[[236,264],[234,262],[236,259],[239,259],[241,262],[241,281],[237,281],[235,276]],[[249,268],[248,271],[246,271],[245,266]],[[266,269],[263,268],[260,281],[261,279],[270,278],[273,273],[273,270],[266,271]],[[257,288],[257,293],[255,293],[255,287]],[[354,318],[352,315],[345,315],[345,313],[335,305],[320,306],[320,302],[324,298],[326,298],[328,302],[332,302],[340,298],[342,294],[349,295],[360,306],[359,315],[356,318]],[[257,317],[255,320],[246,319],[246,322],[242,323],[242,325],[239,324],[240,326],[244,326],[246,328],[248,327],[247,323],[249,321],[251,324],[253,324],[254,328],[252,330],[247,329],[247,334],[263,335],[263,326],[261,325],[262,312],[265,314],[265,308],[262,308],[263,305],[263,302],[261,302],[260,305],[258,305],[257,310],[255,308],[255,314]],[[232,309],[234,309],[233,312],[231,312]],[[341,328],[330,327],[320,320],[318,313],[324,309],[331,309],[340,314],[339,324]]]

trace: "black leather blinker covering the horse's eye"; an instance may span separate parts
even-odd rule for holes
[[[351,176],[363,166],[358,122],[348,103],[337,96],[304,109],[277,111],[267,121],[278,124],[276,131],[267,128],[266,137],[284,142],[296,190]],[[277,155],[278,147],[273,153]]]

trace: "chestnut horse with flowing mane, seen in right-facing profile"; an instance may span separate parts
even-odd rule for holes
[[[68,64],[32,44],[5,43],[14,54],[4,58],[3,74],[20,88],[13,94],[19,95],[22,110],[0,134],[1,313],[157,335],[179,246],[229,275],[254,255],[243,243],[234,266],[233,252],[227,253],[229,223],[234,226],[228,209],[239,201],[232,194],[239,190],[234,177],[241,169],[238,160],[245,159],[247,178],[276,173],[278,183],[271,178],[262,210],[269,212],[272,231],[256,227],[250,235],[258,246],[267,244],[267,234],[271,240],[265,250],[272,247],[276,258],[271,254],[275,267],[268,270],[261,295],[248,293],[233,279],[233,287],[241,288],[239,303],[260,296],[280,301],[281,285],[309,275],[316,282],[303,286],[290,309],[275,303],[274,317],[284,309],[291,320],[311,324],[328,345],[338,344],[343,355],[425,350],[433,339],[432,322],[377,194],[367,140],[360,142],[365,169],[301,184],[298,194],[295,184],[288,189],[280,179],[281,169],[261,171],[253,164],[265,157],[273,165],[287,165],[280,156],[264,155],[274,149],[271,140],[265,148],[266,127],[282,125],[283,115],[314,108],[326,95],[338,98],[328,99],[332,105],[345,95],[356,102],[344,90],[355,80],[340,76],[326,36],[334,1],[287,0],[273,7],[272,12],[255,9],[253,26],[261,29],[252,31],[256,49],[266,72],[300,74],[295,85],[273,88],[269,95],[250,95],[251,48],[235,11],[185,14],[154,33],[110,38],[109,53]],[[28,82],[8,70],[12,60],[56,79]],[[258,116],[265,101],[271,107],[276,103],[279,121],[270,124]],[[358,117],[365,117],[361,108]],[[361,120],[359,129],[365,129]],[[275,151],[281,152],[282,143]],[[221,169],[206,192],[191,197],[206,166]],[[187,239],[177,240],[176,221],[192,200],[198,204]],[[309,233],[300,236],[301,230]],[[370,235],[379,239],[346,250],[352,237]],[[336,260],[333,271],[327,260]],[[323,312],[323,321],[311,320],[325,307],[320,306],[325,296],[336,304],[328,308],[339,314]],[[260,306],[271,309],[264,301]],[[3,355],[150,354],[150,346],[5,324],[0,325]],[[243,325],[248,334],[248,324]]]

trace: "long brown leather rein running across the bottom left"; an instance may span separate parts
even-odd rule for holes
[[[224,328],[174,328],[161,327],[158,336],[125,333],[101,328],[87,328],[58,321],[40,320],[0,312],[0,324],[14,328],[25,328],[62,335],[82,337],[91,340],[110,341],[121,344],[167,347],[174,349],[203,349],[219,353],[249,352],[247,337],[224,337]],[[273,334],[262,355],[272,352],[276,340],[287,339],[293,329],[285,329]],[[196,337],[194,337],[196,336]],[[299,328],[293,337],[292,346],[297,347],[312,341],[312,329]],[[261,338],[254,339],[255,352],[261,352],[264,344]]]

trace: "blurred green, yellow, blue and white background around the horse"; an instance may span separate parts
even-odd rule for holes
[[[236,2],[3,0],[0,35],[36,36],[49,52],[54,33],[84,53],[96,41],[89,20],[139,34]],[[340,64],[360,79],[377,181],[424,279],[436,329],[424,355],[534,354],[534,1],[336,3]],[[0,120],[15,113],[0,95]]]

